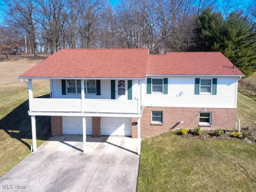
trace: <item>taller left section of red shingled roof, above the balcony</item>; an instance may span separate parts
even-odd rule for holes
[[[145,78],[148,49],[61,49],[20,78]]]

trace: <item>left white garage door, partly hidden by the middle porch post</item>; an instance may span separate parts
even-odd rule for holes
[[[82,135],[82,117],[63,116],[63,134]],[[92,117],[86,117],[86,135],[92,135]]]

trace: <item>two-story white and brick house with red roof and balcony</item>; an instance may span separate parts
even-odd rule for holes
[[[51,116],[52,135],[154,136],[176,128],[234,128],[238,80],[220,52],[62,49],[18,78],[28,79],[35,116]],[[51,98],[33,98],[32,80],[49,79]]]

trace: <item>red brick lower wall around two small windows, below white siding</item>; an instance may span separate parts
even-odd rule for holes
[[[162,111],[163,123],[151,124],[151,112]],[[231,108],[185,108],[185,107],[144,107],[141,124],[141,138],[158,135],[170,130],[180,128],[195,128],[199,126],[199,113],[211,112],[212,119],[210,127],[204,129],[229,129],[236,126],[236,109]],[[137,118],[132,118],[137,122]],[[184,121],[184,123],[179,123]],[[132,126],[132,138],[137,137],[137,126]]]

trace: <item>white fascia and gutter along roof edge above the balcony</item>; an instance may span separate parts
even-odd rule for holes
[[[18,79],[76,79],[76,80],[145,80],[146,78],[104,78],[104,77],[100,77],[100,78],[96,78],[96,77],[90,77],[90,78],[81,78],[81,77],[17,77]]]

